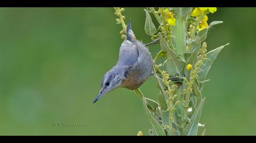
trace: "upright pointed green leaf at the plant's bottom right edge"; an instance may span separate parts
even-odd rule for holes
[[[204,105],[205,98],[199,103],[196,111],[194,111],[193,116],[190,119],[190,122],[184,128],[182,135],[183,136],[196,136],[198,131],[198,123],[201,117],[202,106]]]

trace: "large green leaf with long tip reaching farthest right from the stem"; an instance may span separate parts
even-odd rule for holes
[[[226,44],[226,45],[229,45]],[[216,57],[218,56],[219,52],[221,52],[222,48],[224,48],[226,45],[222,45],[221,47],[215,48],[214,50],[208,52],[206,54],[206,59],[204,61],[204,64],[201,67],[201,71],[198,73],[198,80],[204,81],[208,71],[212,67],[213,62],[215,61]]]

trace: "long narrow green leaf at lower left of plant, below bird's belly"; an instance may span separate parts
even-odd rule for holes
[[[153,133],[155,133],[155,135],[157,136],[166,136],[165,130],[163,129],[163,127],[155,120],[155,118],[152,116],[151,112],[149,111],[145,98],[143,98],[143,106],[152,124]]]

